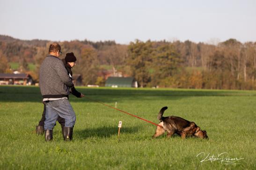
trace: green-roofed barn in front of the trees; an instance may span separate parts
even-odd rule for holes
[[[105,87],[138,88],[138,83],[133,77],[109,77],[105,83]]]

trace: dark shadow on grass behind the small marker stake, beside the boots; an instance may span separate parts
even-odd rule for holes
[[[122,133],[136,133],[139,131],[139,127],[132,127],[127,128],[124,127],[121,129]],[[91,128],[91,129],[76,129],[74,131],[75,138],[78,139],[86,139],[89,137],[100,137],[100,138],[108,138],[113,135],[117,135],[118,128],[117,127],[110,127],[110,126],[103,126],[98,128]]]

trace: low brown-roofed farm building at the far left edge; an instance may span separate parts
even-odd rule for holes
[[[5,74],[0,73],[0,85],[31,85],[33,82],[32,77],[28,74]]]

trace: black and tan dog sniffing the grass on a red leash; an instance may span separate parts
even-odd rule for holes
[[[206,131],[201,130],[195,122],[190,122],[177,116],[163,117],[163,113],[166,109],[168,109],[168,107],[163,107],[158,114],[157,118],[161,121],[159,125],[162,127],[157,126],[153,138],[161,136],[166,131],[167,137],[176,133],[179,136],[182,136],[183,139],[186,136],[196,136],[203,139],[208,138]]]

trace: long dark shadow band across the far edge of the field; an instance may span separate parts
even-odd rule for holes
[[[123,98],[155,100],[162,97],[168,100],[191,96],[256,96],[256,91],[238,90],[195,90],[195,89],[151,89],[151,88],[83,88],[78,91],[101,102],[114,102]],[[143,99],[144,100],[144,99]],[[0,102],[41,102],[42,96],[37,86],[0,86]],[[92,102],[70,95],[71,102]]]

